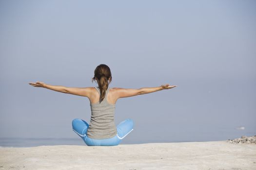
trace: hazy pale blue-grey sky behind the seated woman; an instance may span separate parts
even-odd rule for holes
[[[86,97],[29,85],[177,87],[118,99],[123,143],[256,135],[256,1],[1,0],[0,137],[79,138]],[[83,141],[81,140],[81,143]]]

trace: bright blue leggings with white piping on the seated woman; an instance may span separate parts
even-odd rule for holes
[[[87,136],[89,124],[82,119],[72,121],[73,130],[83,139],[88,146],[115,146],[121,142],[133,130],[134,122],[132,119],[125,119],[117,125],[117,135],[106,139],[93,139]]]

